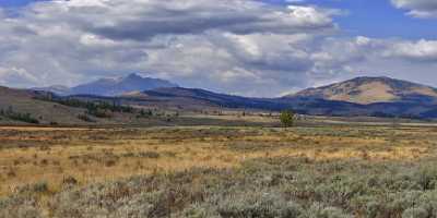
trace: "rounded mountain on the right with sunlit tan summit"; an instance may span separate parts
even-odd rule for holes
[[[328,86],[308,88],[286,97],[339,100],[369,105],[376,102],[437,102],[437,89],[390,77],[356,77]]]

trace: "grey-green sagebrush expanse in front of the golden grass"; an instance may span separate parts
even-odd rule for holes
[[[154,158],[156,154],[127,155]],[[67,218],[437,217],[437,190],[429,189],[434,172],[427,166],[426,162],[260,158],[237,169],[191,169],[85,187],[66,185],[50,196],[49,209],[54,217]],[[422,189],[423,184],[427,189]],[[14,202],[14,197],[3,203],[0,199],[0,217],[1,213],[9,213],[5,210],[32,206],[35,203],[32,195],[40,195],[44,190],[44,185],[31,186],[19,193],[20,202]],[[28,211],[37,214],[31,206]]]

